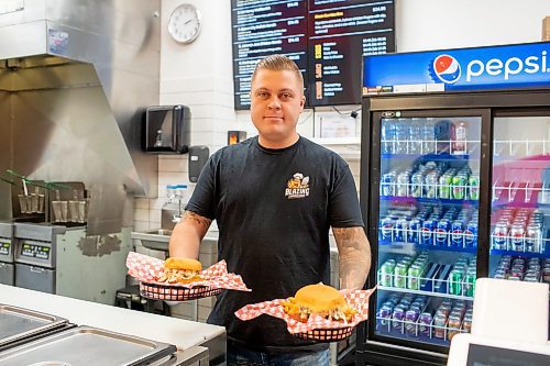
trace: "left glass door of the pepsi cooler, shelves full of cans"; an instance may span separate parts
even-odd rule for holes
[[[380,120],[374,337],[430,348],[470,331],[482,117],[468,113]]]

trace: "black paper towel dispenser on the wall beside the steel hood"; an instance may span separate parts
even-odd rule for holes
[[[189,151],[191,112],[188,107],[154,106],[145,111],[143,148],[152,154],[185,154]]]

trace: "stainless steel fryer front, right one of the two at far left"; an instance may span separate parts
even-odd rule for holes
[[[65,226],[14,224],[15,286],[56,293],[57,235],[65,231]]]

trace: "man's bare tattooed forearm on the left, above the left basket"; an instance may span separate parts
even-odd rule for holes
[[[174,228],[169,242],[170,257],[199,258],[199,246],[212,220],[191,211],[185,211]]]

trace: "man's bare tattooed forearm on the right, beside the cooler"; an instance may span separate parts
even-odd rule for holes
[[[362,289],[371,270],[371,245],[363,228],[332,228],[332,233],[340,258],[340,288]]]

